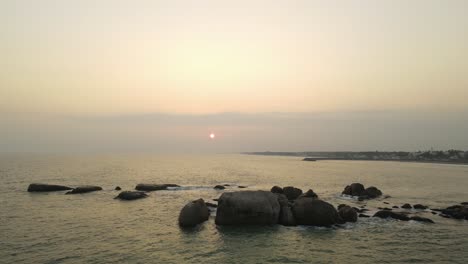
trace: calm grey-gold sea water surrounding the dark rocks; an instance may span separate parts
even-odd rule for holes
[[[468,221],[419,212],[435,224],[360,218],[343,228],[177,225],[189,201],[225,191],[312,188],[338,205],[369,209],[403,203],[432,208],[468,201],[468,166],[378,161],[303,162],[295,157],[20,156],[0,157],[0,262],[4,263],[395,263],[468,260]],[[32,182],[99,185],[103,191],[28,193]],[[391,198],[358,202],[339,194],[352,182]],[[115,186],[176,183],[146,199],[119,201]],[[390,203],[389,205],[383,202]]]

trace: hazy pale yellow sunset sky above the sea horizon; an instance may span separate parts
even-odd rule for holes
[[[0,0],[0,152],[468,150],[466,10]]]

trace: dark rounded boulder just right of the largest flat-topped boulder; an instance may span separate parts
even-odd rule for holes
[[[299,225],[331,226],[340,221],[333,205],[311,197],[301,197],[292,207],[294,218]]]

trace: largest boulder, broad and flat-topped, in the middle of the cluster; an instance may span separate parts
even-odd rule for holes
[[[267,191],[223,193],[218,200],[217,225],[272,225],[280,214],[278,197]]]

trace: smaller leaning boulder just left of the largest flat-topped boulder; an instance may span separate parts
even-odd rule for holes
[[[179,214],[179,225],[192,227],[208,220],[210,212],[203,199],[198,199],[186,204]]]

